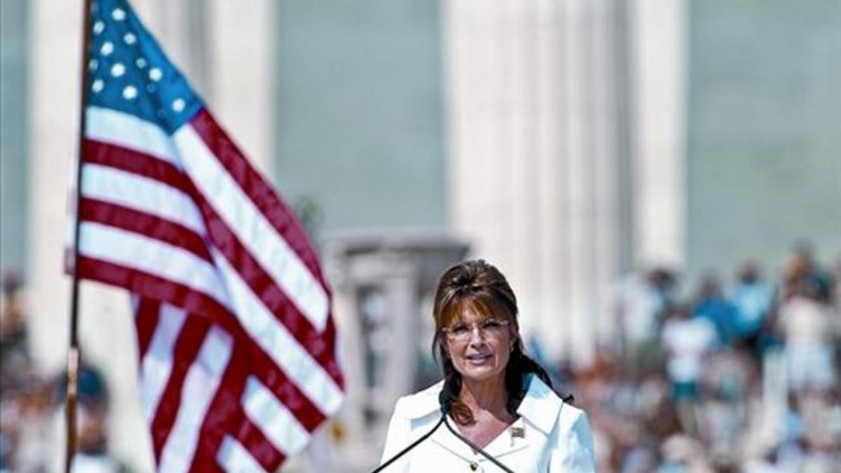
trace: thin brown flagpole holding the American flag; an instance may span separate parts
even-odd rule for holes
[[[85,105],[87,104],[87,53],[91,43],[91,0],[82,1],[82,54],[79,65],[81,74],[79,84],[79,135],[77,141],[76,162],[76,224],[73,229],[73,280],[70,293],[70,347],[67,350],[67,440],[65,472],[70,473],[77,447],[76,404],[79,378],[79,229],[82,207],[82,161],[86,127]]]

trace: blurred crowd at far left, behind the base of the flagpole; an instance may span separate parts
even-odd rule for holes
[[[66,373],[34,363],[21,279],[4,274],[0,296],[0,472],[61,470],[65,458]],[[103,375],[82,362],[78,378],[77,457],[73,470],[119,472],[108,453],[108,390]]]

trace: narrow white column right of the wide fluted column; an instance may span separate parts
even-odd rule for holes
[[[629,7],[636,263],[685,260],[685,0]]]

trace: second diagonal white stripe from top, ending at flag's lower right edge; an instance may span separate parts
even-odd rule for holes
[[[212,254],[225,279],[231,306],[246,332],[321,412],[326,415],[336,412],[342,399],[336,382],[268,311],[225,257],[215,250]]]

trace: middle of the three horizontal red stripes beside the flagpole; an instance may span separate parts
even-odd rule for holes
[[[204,239],[186,226],[164,220],[157,215],[150,215],[98,199],[83,197],[81,205],[82,221],[95,221],[154,238],[172,246],[181,247],[188,252],[192,252],[198,258],[213,263],[213,258],[210,257]]]

